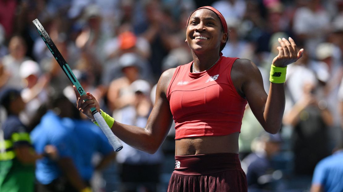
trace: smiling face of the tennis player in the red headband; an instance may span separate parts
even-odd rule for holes
[[[227,34],[223,32],[222,23],[211,10],[199,9],[189,19],[186,41],[194,52],[208,52],[217,50],[221,43],[226,42]]]

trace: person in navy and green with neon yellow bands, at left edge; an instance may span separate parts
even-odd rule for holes
[[[33,150],[27,127],[19,120],[19,113],[25,108],[20,91],[5,88],[0,104],[8,114],[0,129],[0,191],[33,192],[35,161],[42,157],[54,161],[57,150],[48,143],[40,154]]]

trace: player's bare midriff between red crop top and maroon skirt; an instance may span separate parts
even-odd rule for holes
[[[175,155],[238,153],[239,133],[224,136],[189,137],[175,141]]]

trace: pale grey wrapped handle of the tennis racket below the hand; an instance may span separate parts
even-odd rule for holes
[[[100,115],[98,111],[96,111],[94,114],[95,121],[99,124],[100,128],[105,133],[107,139],[111,143],[113,149],[118,152],[123,148],[123,145],[119,142],[118,138],[113,134],[111,129],[108,127],[106,121],[104,120],[103,116]]]

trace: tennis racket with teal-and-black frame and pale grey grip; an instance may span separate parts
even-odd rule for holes
[[[52,55],[55,57],[57,63],[60,65],[64,73],[66,73],[67,77],[71,81],[73,85],[75,85],[76,89],[80,93],[80,95],[85,95],[86,92],[83,90],[81,84],[79,83],[78,79],[76,79],[74,73],[71,71],[69,65],[67,64],[66,60],[64,60],[61,53],[58,51],[56,45],[54,42],[52,42],[51,38],[49,37],[48,33],[43,28],[42,24],[40,24],[38,19],[35,19],[32,21],[32,23],[37,28],[37,31],[42,37],[43,41],[45,42],[46,46],[49,48]],[[115,151],[120,151],[123,146],[119,142],[118,138],[113,134],[111,129],[108,127],[107,123],[105,122],[104,118],[101,116],[101,114],[95,109],[91,108],[92,114],[94,115],[95,121],[99,124],[102,131],[105,133],[107,139],[111,143],[113,149]]]

